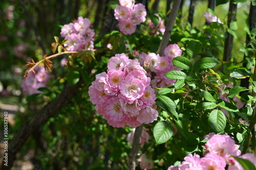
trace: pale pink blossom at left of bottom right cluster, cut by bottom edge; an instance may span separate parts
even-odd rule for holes
[[[185,161],[183,161],[180,165],[180,170],[187,170],[187,169],[197,169],[197,170],[203,170],[200,165],[200,156],[197,154],[188,154],[184,158]]]

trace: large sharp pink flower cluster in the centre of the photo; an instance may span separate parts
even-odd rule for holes
[[[155,91],[138,60],[116,54],[109,59],[107,71],[96,75],[88,93],[109,125],[136,128],[157,120]]]

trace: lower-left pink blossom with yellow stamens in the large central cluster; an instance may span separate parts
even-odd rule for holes
[[[107,101],[107,103],[108,106],[106,106],[106,114],[110,116],[111,120],[119,122],[126,117],[126,114],[124,114],[123,112],[118,97],[111,98]]]

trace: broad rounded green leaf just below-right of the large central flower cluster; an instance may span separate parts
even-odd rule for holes
[[[158,122],[153,129],[156,145],[165,143],[174,134],[173,126],[165,121]]]

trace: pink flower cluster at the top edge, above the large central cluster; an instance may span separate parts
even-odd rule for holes
[[[115,18],[123,34],[133,34],[136,25],[146,20],[145,6],[134,4],[132,0],[119,0],[120,6],[115,9]]]

